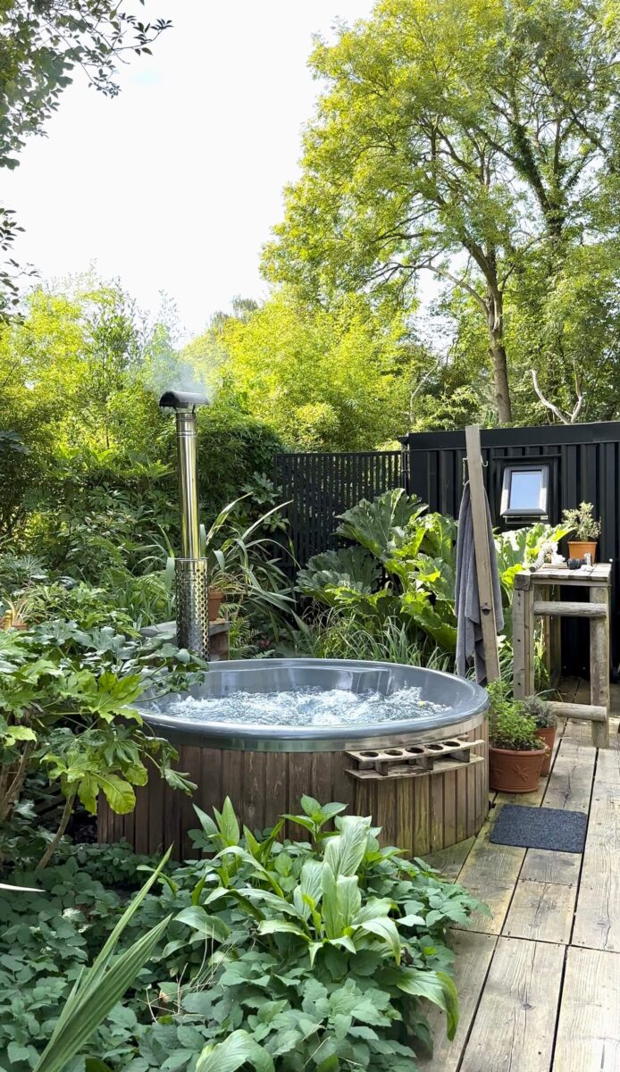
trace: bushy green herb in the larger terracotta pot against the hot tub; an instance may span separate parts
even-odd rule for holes
[[[504,793],[535,790],[547,746],[538,736],[534,718],[523,705],[506,696],[496,683],[489,715],[489,788]]]

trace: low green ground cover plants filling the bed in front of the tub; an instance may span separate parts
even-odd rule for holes
[[[302,798],[296,836],[284,842],[282,823],[241,829],[230,801],[215,818],[198,812],[193,839],[207,855],[168,864],[145,896],[120,948],[172,917],[166,934],[68,1072],[330,1072],[352,1062],[411,1072],[412,1046],[431,1044],[429,1001],[452,1034],[447,929],[481,906],[343,810]],[[116,857],[123,881],[138,884],[148,862],[122,847],[72,850],[42,873],[9,875],[43,892],[0,898],[3,1072],[35,1067],[73,981],[119,920],[127,894],[100,881]]]

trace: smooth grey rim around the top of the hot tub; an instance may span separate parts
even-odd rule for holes
[[[439,740],[458,726],[459,733],[466,733],[479,726],[481,715],[489,705],[489,698],[479,685],[441,670],[428,670],[426,667],[412,667],[399,662],[366,661],[364,659],[238,659],[231,662],[213,664],[208,673],[233,674],[237,670],[295,669],[302,668],[335,668],[404,670],[407,675],[415,679],[418,675],[458,682],[459,690],[469,693],[470,702],[461,697],[457,710],[448,710],[441,714],[431,714],[428,718],[403,719],[398,723],[377,723],[361,726],[304,726],[304,727],[270,727],[256,724],[206,723],[188,718],[179,718],[161,712],[153,712],[144,704],[136,709],[145,723],[153,730],[167,738],[173,744],[184,744],[195,747],[222,748],[238,751],[274,751],[274,753],[321,753],[321,751],[358,751],[361,748],[393,747],[418,742],[422,736],[427,740]],[[177,696],[179,694],[176,694]],[[148,698],[148,694],[143,699]],[[461,708],[462,705],[462,708]],[[461,708],[461,710],[458,710]],[[464,709],[464,710],[463,710]]]

